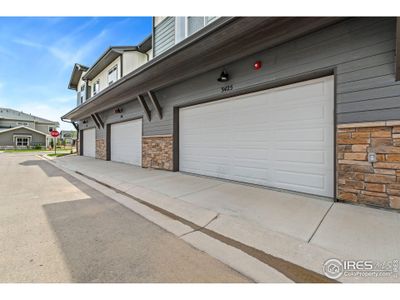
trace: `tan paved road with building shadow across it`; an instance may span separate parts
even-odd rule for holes
[[[0,172],[0,282],[249,281],[35,154]]]

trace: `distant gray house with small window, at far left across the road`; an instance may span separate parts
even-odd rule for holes
[[[0,148],[47,146],[60,124],[10,108],[0,108]]]

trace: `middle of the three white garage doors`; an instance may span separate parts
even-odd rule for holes
[[[142,119],[111,125],[111,160],[142,165]]]

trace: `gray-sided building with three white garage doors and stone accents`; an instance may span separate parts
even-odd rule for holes
[[[80,155],[400,208],[399,19],[193,18],[63,116]]]

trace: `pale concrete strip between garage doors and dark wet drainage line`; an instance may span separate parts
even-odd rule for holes
[[[331,258],[379,262],[400,258],[400,215],[396,212],[81,156],[52,162],[320,274],[324,262]],[[182,232],[182,238],[196,245],[201,237],[188,233]],[[200,242],[198,247],[202,247]],[[393,276],[342,276],[338,280],[400,281]]]

